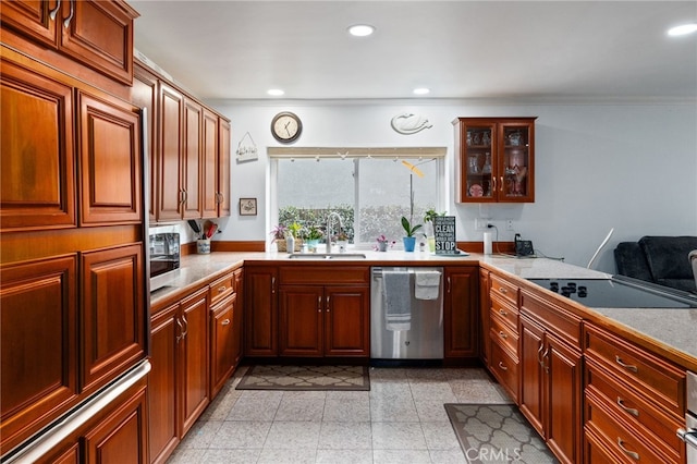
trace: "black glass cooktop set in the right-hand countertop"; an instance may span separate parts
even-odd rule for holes
[[[588,307],[695,308],[697,295],[615,276],[612,279],[528,279]]]

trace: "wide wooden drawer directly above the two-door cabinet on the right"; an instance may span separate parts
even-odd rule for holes
[[[560,340],[580,349],[582,319],[578,316],[525,291],[521,292],[521,310]]]

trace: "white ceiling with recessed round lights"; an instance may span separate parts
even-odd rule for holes
[[[129,3],[135,47],[204,99],[697,98],[697,34],[665,34],[695,1]]]

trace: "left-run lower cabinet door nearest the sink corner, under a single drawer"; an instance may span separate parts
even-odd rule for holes
[[[234,368],[234,310],[236,295],[223,300],[210,309],[210,398],[212,399]]]

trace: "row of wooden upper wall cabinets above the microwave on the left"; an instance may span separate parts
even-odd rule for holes
[[[230,216],[230,121],[138,62],[131,100],[149,110],[150,222]]]

